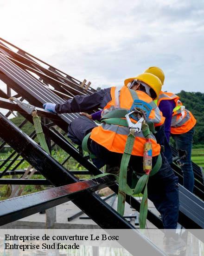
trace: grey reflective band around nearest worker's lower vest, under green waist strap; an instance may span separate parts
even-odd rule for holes
[[[102,123],[101,126],[104,130],[112,131],[112,132],[115,132],[116,134],[120,134],[120,135],[128,135],[130,133],[130,129],[128,127],[124,127],[124,126],[119,126],[119,125],[115,125],[115,124],[107,124],[107,123]],[[145,136],[143,135],[142,131],[140,133],[137,133],[135,137],[145,139]],[[153,134],[151,134],[150,137],[151,137],[151,139],[156,141],[156,138]]]

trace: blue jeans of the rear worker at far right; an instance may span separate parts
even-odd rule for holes
[[[194,128],[184,134],[172,134],[178,149],[178,164],[184,176],[184,187],[193,192],[194,174],[191,163],[191,150],[193,142]]]

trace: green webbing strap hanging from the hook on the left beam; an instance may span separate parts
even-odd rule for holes
[[[45,140],[45,135],[43,133],[43,129],[41,126],[40,118],[37,115],[37,111],[32,112],[32,120],[35,128],[36,135],[38,137],[38,141],[40,143],[40,146],[48,153],[50,154],[50,150],[47,146],[46,140]]]

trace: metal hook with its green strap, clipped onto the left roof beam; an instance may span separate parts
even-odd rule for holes
[[[33,125],[35,128],[35,132],[36,135],[38,137],[38,141],[40,143],[40,146],[48,153],[50,154],[50,150],[47,146],[46,140],[45,140],[45,135],[43,133],[43,129],[41,126],[41,121],[40,118],[37,114],[37,110],[35,109],[34,106],[27,104],[25,102],[19,101],[17,98],[15,97],[10,97],[9,100],[11,101],[15,101],[17,103],[17,105],[22,108],[27,114],[32,115],[32,121],[33,121]]]

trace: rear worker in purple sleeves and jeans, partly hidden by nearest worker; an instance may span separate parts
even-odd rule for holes
[[[159,67],[149,67],[145,72],[156,75],[160,79],[162,85],[164,84],[165,75]],[[176,148],[178,149],[178,164],[181,167],[184,176],[183,185],[186,189],[193,192],[194,175],[191,163],[191,150],[196,119],[191,112],[183,106],[179,97],[175,94],[161,91],[157,105],[163,116],[166,118],[166,139],[169,141],[171,134],[176,143]],[[170,157],[170,147],[166,142],[164,142],[164,145],[165,155],[167,160],[171,163],[172,157]]]

